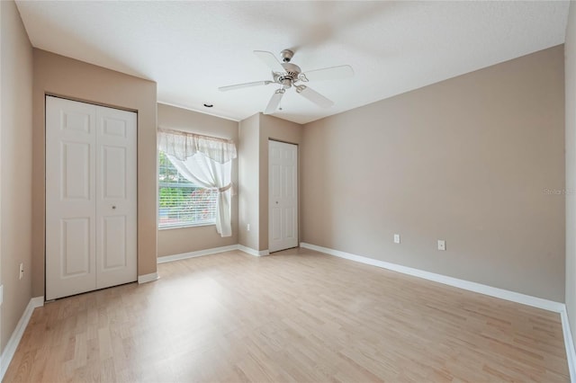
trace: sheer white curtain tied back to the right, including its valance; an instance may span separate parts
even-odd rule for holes
[[[158,129],[158,148],[188,181],[218,191],[216,231],[231,236],[231,172],[236,145],[227,139]]]

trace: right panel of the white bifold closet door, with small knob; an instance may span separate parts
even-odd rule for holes
[[[96,111],[96,289],[136,281],[136,113]]]

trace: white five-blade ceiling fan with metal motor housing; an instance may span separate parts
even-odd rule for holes
[[[218,88],[221,92],[232,91],[235,89],[247,88],[250,86],[259,85],[280,85],[275,93],[272,94],[272,98],[266,106],[264,114],[274,113],[280,106],[282,97],[286,92],[286,89],[294,87],[296,93],[302,95],[302,97],[314,102],[322,108],[329,108],[334,105],[334,102],[330,101],[328,98],[319,94],[315,90],[311,89],[307,85],[302,83],[308,83],[309,81],[316,80],[333,80],[338,78],[346,78],[354,76],[354,70],[348,65],[343,65],[339,67],[325,67],[322,69],[311,70],[306,73],[302,73],[302,69],[297,65],[291,63],[294,56],[294,52],[290,49],[284,49],[280,52],[280,57],[282,58],[282,63],[275,58],[275,55],[266,50],[255,50],[254,54],[257,58],[260,58],[264,63],[272,69],[272,80],[255,81],[253,83],[245,83],[238,85],[221,86]]]

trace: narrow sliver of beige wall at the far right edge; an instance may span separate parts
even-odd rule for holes
[[[576,343],[576,7],[570,4],[564,45],[566,95],[566,310]]]

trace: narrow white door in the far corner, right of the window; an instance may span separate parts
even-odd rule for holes
[[[298,147],[268,141],[268,250],[298,246]]]

